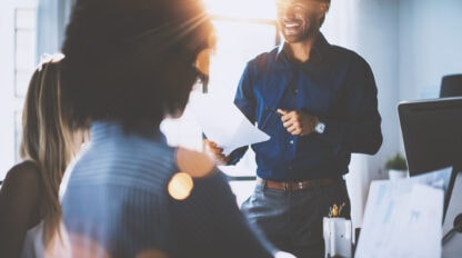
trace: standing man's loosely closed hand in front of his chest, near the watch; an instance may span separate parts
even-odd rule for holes
[[[281,115],[282,125],[293,136],[308,136],[314,131],[318,117],[297,110],[278,109]]]

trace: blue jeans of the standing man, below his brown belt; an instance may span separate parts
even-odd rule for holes
[[[322,219],[329,216],[334,204],[344,204],[340,216],[350,219],[351,206],[344,180],[295,191],[257,185],[241,209],[279,249],[299,258],[323,258]]]

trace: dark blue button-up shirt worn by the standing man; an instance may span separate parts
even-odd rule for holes
[[[284,44],[249,61],[234,103],[271,136],[252,145],[257,175],[305,180],[348,172],[352,152],[375,153],[382,145],[378,90],[368,62],[329,44],[320,34],[307,62],[291,61]],[[270,109],[301,110],[325,123],[323,133],[292,136]],[[247,147],[231,153],[235,163]]]

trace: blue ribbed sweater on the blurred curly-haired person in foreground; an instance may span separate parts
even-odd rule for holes
[[[272,256],[202,153],[169,147],[160,131],[130,135],[108,121],[94,122],[91,138],[62,199],[78,256]]]

